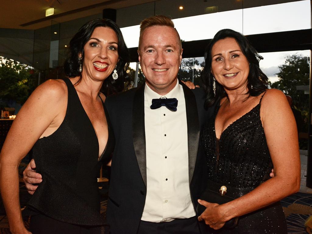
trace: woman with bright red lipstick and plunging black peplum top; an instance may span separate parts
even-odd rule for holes
[[[123,90],[129,54],[119,27],[97,19],[71,39],[64,80],[38,86],[19,111],[1,151],[0,184],[12,233],[30,233],[18,197],[19,161],[33,147],[42,180],[23,216],[36,233],[101,233],[97,173],[115,146],[104,107]],[[38,177],[36,177],[38,178]]]

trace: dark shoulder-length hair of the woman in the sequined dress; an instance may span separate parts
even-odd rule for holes
[[[212,90],[213,75],[211,73],[211,62],[212,46],[219,40],[226,37],[232,37],[236,40],[241,48],[242,53],[246,56],[249,62],[249,74],[248,74],[248,92],[251,96],[258,96],[268,88],[268,77],[261,71],[259,67],[259,61],[263,59],[261,55],[258,54],[256,49],[251,46],[247,38],[232,29],[222,29],[213,37],[213,39],[208,44],[205,50],[205,67],[202,71],[202,86],[205,90],[205,108],[212,106],[214,103],[219,102],[221,98],[227,96],[224,88],[220,85],[217,80],[216,82],[216,95],[214,95]]]

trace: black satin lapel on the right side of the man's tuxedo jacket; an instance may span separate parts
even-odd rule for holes
[[[195,95],[186,85],[181,82],[180,84],[183,87],[185,98],[188,125],[188,179],[189,183],[191,183],[197,158],[200,129]]]

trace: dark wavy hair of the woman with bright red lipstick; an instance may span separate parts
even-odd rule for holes
[[[120,28],[117,24],[109,19],[95,19],[85,23],[79,31],[75,34],[75,36],[71,39],[69,43],[69,51],[66,61],[64,63],[64,72],[68,77],[75,77],[80,76],[80,79],[77,83],[81,80],[81,72],[79,72],[79,54],[82,55],[81,63],[84,59],[84,49],[83,47],[89,41],[94,29],[96,27],[109,27],[113,29],[118,38],[118,56],[119,61],[117,62],[117,74],[118,79],[114,80],[112,74],[107,77],[102,85],[101,92],[105,95],[110,95],[112,93],[120,92],[124,90],[124,82],[128,81],[129,83],[129,76],[127,75],[126,71],[129,66],[130,56],[128,48],[124,42],[124,37],[120,31]],[[83,69],[83,68],[82,68]]]

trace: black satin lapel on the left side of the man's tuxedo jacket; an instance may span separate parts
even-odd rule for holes
[[[141,176],[146,187],[146,142],[144,122],[144,87],[141,85],[135,92],[133,101],[132,130],[133,146],[138,161]]]

